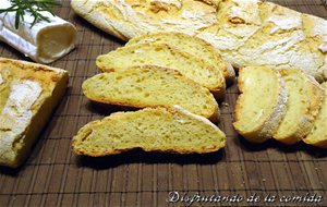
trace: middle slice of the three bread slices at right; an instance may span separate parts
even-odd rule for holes
[[[281,70],[288,90],[287,112],[274,138],[284,144],[303,139],[312,130],[324,89],[311,76],[298,70]]]

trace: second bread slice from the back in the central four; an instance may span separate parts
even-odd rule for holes
[[[137,44],[97,58],[97,66],[104,72],[130,70],[131,66],[149,64],[177,70],[185,77],[208,88],[217,97],[225,95],[225,78],[219,70],[203,59],[166,44]]]

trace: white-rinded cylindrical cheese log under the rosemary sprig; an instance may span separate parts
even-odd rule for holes
[[[11,7],[4,0],[0,9]],[[39,21],[31,27],[34,16],[25,12],[24,21],[15,28],[15,12],[0,14],[0,40],[14,47],[36,62],[50,63],[69,53],[77,36],[75,26],[50,12],[41,12],[50,22]]]

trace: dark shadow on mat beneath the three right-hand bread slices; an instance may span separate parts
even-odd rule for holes
[[[279,143],[272,138],[266,141],[265,143],[261,144],[254,144],[242,136],[239,135],[239,145],[242,148],[242,150],[246,151],[264,151],[267,150],[268,148],[276,148],[282,154],[294,154],[296,151],[305,153],[313,158],[326,158],[327,157],[327,151],[326,149],[322,149],[312,145],[307,145],[303,142],[299,142],[294,145],[286,145],[282,143]]]

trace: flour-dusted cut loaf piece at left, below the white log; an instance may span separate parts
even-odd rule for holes
[[[0,58],[0,165],[19,167],[64,95],[66,71]]]

